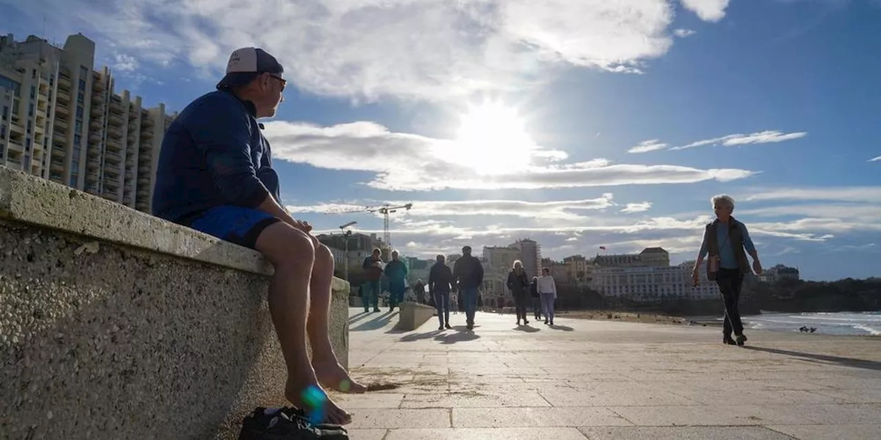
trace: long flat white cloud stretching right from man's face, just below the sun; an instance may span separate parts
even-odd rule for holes
[[[693,183],[738,180],[753,174],[733,168],[611,164],[605,159],[555,163],[566,158],[566,153],[535,146],[522,153],[530,156],[525,169],[479,175],[467,164],[474,158],[501,160],[507,154],[504,145],[463,148],[452,141],[395,133],[365,121],[332,127],[273,121],[266,124],[265,134],[274,157],[333,170],[374,172],[374,179],[366,185],[398,191]]]

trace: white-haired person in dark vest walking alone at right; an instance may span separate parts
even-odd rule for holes
[[[707,258],[707,279],[714,281],[722,293],[725,303],[725,319],[722,324],[722,342],[730,345],[744,345],[744,324],[740,320],[740,290],[744,285],[744,275],[750,273],[750,262],[746,253],[752,257],[752,270],[756,275],[762,273],[759,252],[752,243],[746,225],[737,221],[734,213],[734,199],[729,195],[714,195],[710,202],[716,219],[707,224],[704,238],[700,244],[698,259],[694,262],[692,282],[700,284],[700,264]],[[745,252],[744,252],[745,249]],[[708,254],[708,256],[707,256]],[[731,338],[731,333],[735,338]]]

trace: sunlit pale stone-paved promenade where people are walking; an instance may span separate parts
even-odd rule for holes
[[[335,399],[354,440],[877,439],[881,339],[464,315],[396,333],[352,309],[350,364],[383,390]],[[565,316],[565,315],[564,315]]]

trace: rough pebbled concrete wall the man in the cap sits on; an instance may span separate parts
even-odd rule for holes
[[[241,246],[0,167],[0,437],[236,438],[284,403],[271,267]],[[347,363],[348,298],[331,334]]]

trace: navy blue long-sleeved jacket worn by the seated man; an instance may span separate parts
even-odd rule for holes
[[[218,91],[197,98],[168,127],[159,151],[152,213],[189,224],[221,205],[281,202],[270,143],[250,101]]]

